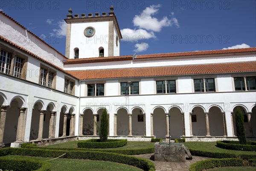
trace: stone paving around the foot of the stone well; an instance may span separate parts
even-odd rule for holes
[[[145,158],[154,162],[154,165],[156,166],[156,171],[189,171],[189,167],[193,163],[201,160],[210,159],[208,157],[193,156],[192,160],[186,160],[186,162],[159,162],[159,161],[154,161],[154,153],[140,154],[140,155],[134,155],[134,156]]]

